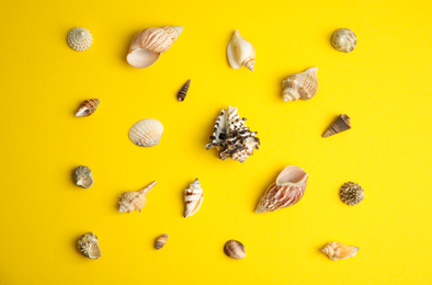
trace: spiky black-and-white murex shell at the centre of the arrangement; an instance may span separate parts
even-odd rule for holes
[[[223,110],[216,118],[212,141],[207,144],[206,149],[219,150],[221,160],[231,158],[245,162],[260,145],[258,133],[250,132],[245,122],[246,118],[240,118],[237,107],[228,106],[227,110]]]

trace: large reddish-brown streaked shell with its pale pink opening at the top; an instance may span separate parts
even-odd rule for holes
[[[307,174],[299,167],[286,167],[265,191],[258,203],[255,213],[273,212],[296,204],[305,194]]]

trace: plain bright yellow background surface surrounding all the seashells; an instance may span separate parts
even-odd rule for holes
[[[427,0],[3,1],[0,284],[431,284],[431,13]],[[160,25],[184,31],[156,65],[128,66],[134,35]],[[93,34],[89,50],[68,47],[75,26]],[[353,53],[331,47],[340,27],[355,32]],[[235,29],[257,48],[253,73],[227,64]],[[284,103],[282,80],[312,66],[318,94]],[[75,117],[90,98],[96,113]],[[243,164],[205,149],[228,105],[261,138]],[[322,138],[341,113],[352,129]],[[154,148],[127,136],[145,117],[164,126]],[[80,164],[91,189],[72,183]],[[255,214],[289,164],[310,174],[303,200]],[[205,200],[183,218],[195,178]],[[143,213],[117,213],[117,195],[152,180]],[[339,200],[346,181],[365,189],[359,206]],[[100,260],[76,249],[88,231]],[[245,260],[224,254],[229,239]],[[357,255],[319,252],[334,240]]]

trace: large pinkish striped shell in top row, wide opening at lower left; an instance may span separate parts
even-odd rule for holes
[[[161,26],[143,30],[130,44],[129,53],[126,57],[127,62],[137,68],[151,66],[162,53],[170,49],[182,31],[182,26]]]

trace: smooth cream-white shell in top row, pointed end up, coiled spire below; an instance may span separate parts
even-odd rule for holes
[[[227,47],[228,62],[234,69],[245,66],[253,71],[255,66],[255,48],[246,41],[238,30],[234,32],[231,41]]]

